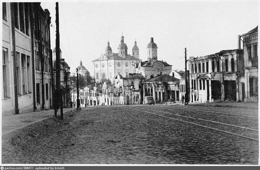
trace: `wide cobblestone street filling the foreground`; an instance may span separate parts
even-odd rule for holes
[[[200,111],[189,112],[191,109]],[[258,164],[256,140],[149,112],[258,140],[257,109],[190,105],[93,107],[67,112],[55,128],[2,155],[2,163]]]

